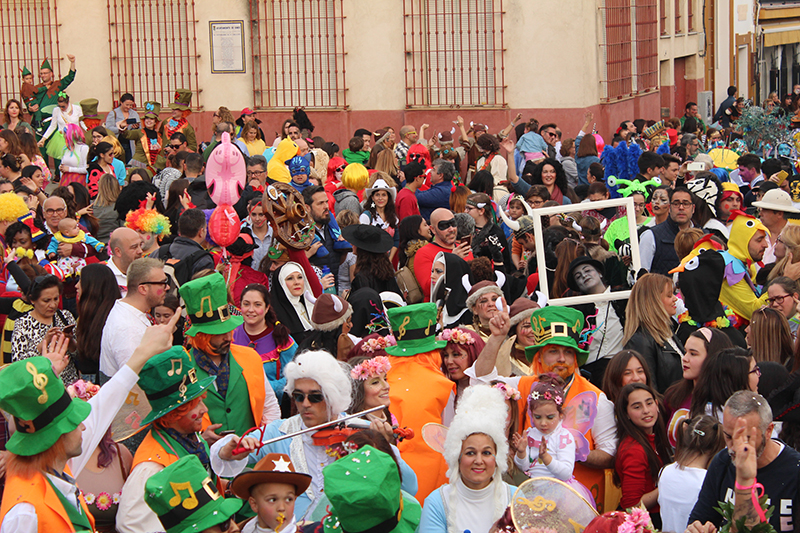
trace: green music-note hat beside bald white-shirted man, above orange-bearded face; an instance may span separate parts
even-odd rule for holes
[[[198,333],[222,335],[244,322],[244,318],[230,314],[228,287],[219,272],[184,283],[180,293],[186,302],[186,314],[192,321],[192,327],[186,332],[189,337]]]

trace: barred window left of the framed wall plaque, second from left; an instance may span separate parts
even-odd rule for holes
[[[192,91],[200,109],[194,0],[107,0],[111,91],[166,108],[176,89]]]

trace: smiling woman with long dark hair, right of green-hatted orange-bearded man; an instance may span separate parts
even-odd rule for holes
[[[283,370],[294,359],[297,343],[288,328],[278,320],[272,307],[269,291],[260,283],[253,283],[242,290],[240,306],[244,323],[233,330],[233,343],[253,348],[264,363],[264,374],[278,398],[284,405],[286,378]]]

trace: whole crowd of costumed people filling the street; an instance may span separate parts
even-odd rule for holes
[[[341,149],[301,108],[195,131],[183,89],[103,120],[68,58],[0,130],[0,533],[509,531],[538,477],[587,531],[795,529],[800,176],[735,87],[607,145],[587,112]]]

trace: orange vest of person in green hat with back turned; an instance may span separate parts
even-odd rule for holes
[[[442,374],[439,350],[411,357],[389,356],[389,399],[392,414],[401,426],[414,430],[415,437],[397,444],[403,459],[417,474],[419,501],[447,483],[447,463],[444,456],[422,440],[422,426],[428,422],[442,423],[442,411],[447,406],[455,383]]]

